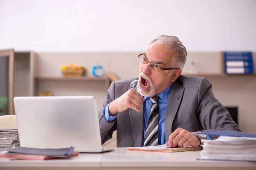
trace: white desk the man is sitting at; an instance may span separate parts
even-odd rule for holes
[[[198,161],[200,150],[178,153],[127,151],[117,148],[106,153],[80,153],[68,159],[25,161],[0,160],[0,170],[85,170],[85,169],[178,169],[178,170],[256,170],[256,162]]]

